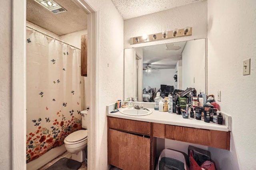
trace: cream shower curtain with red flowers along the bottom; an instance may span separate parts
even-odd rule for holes
[[[27,30],[26,157],[30,162],[81,129],[80,50]]]

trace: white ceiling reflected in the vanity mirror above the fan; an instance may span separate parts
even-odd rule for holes
[[[167,69],[175,68],[178,60],[182,59],[182,51],[186,41],[178,43],[160,44],[142,47],[143,50],[143,68],[150,64],[152,68]],[[177,49],[177,50],[166,50]]]

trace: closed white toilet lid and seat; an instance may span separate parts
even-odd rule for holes
[[[73,133],[70,133],[65,139],[64,143],[66,144],[77,144],[87,140],[87,130],[79,130]]]

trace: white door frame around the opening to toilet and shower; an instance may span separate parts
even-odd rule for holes
[[[98,109],[99,15],[85,0],[75,0],[88,13],[88,170],[96,167]],[[26,170],[26,0],[12,0],[12,170]]]

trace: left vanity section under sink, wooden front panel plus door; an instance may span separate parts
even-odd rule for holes
[[[123,170],[150,170],[149,122],[108,117],[108,164]]]

